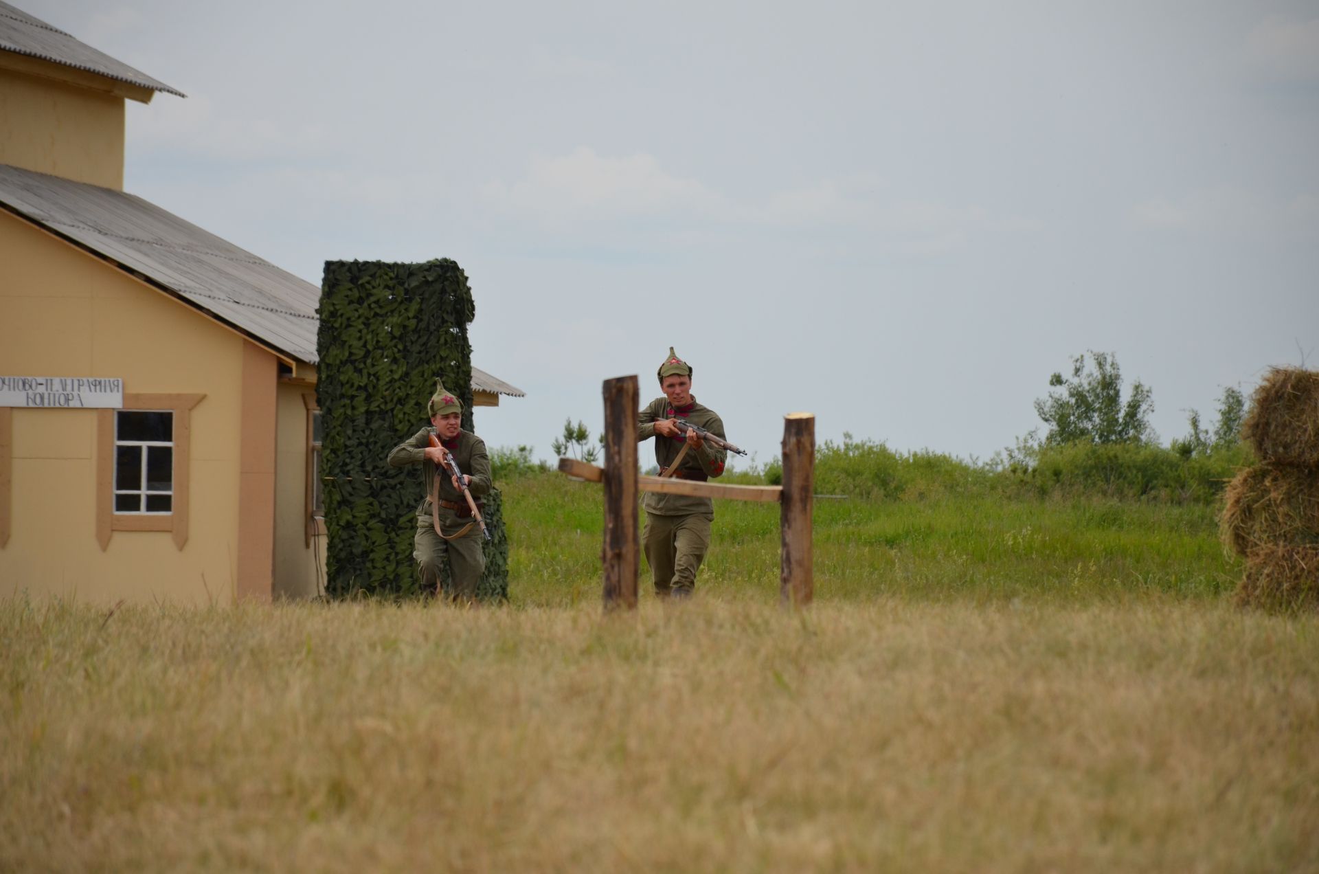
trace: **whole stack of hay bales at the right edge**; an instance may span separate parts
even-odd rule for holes
[[[1319,372],[1269,371],[1242,436],[1260,463],[1228,486],[1220,533],[1245,556],[1244,605],[1319,607]]]

